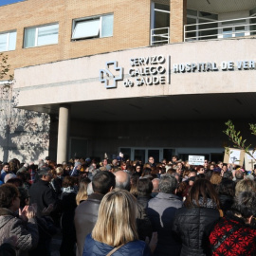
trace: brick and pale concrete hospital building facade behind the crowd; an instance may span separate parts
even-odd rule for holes
[[[58,162],[119,152],[218,160],[228,119],[253,144],[255,1],[27,0],[0,9],[17,107],[48,115],[45,152]]]

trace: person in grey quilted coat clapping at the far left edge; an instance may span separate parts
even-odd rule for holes
[[[27,255],[27,251],[36,247],[38,243],[35,209],[26,206],[24,210],[19,210],[19,196],[18,189],[12,184],[0,187],[0,245],[16,235],[16,256]]]

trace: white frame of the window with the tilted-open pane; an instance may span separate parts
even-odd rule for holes
[[[102,36],[102,22],[103,22],[103,17],[104,16],[113,16],[113,24],[112,24],[112,34],[109,36]],[[86,37],[79,37],[79,38],[74,38],[74,33],[76,31],[76,26],[78,23],[82,21],[92,21],[92,20],[98,20],[100,21],[99,25],[99,35],[98,36],[86,36]],[[107,38],[107,37],[112,37],[114,34],[114,13],[106,13],[106,14],[101,14],[101,15],[95,15],[95,16],[89,16],[89,17],[82,17],[78,19],[73,19],[72,20],[72,31],[71,31],[71,41],[81,41],[81,40],[89,40],[89,39],[95,39],[95,38]]]

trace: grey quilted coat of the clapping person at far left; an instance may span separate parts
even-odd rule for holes
[[[27,255],[27,250],[36,247],[38,243],[36,220],[30,218],[25,223],[9,209],[0,208],[0,245],[12,235],[18,238],[16,255]]]

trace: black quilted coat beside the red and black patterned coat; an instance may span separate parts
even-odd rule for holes
[[[180,255],[210,255],[209,235],[219,217],[219,210],[212,205],[211,200],[205,207],[177,210],[173,230],[182,240]]]

